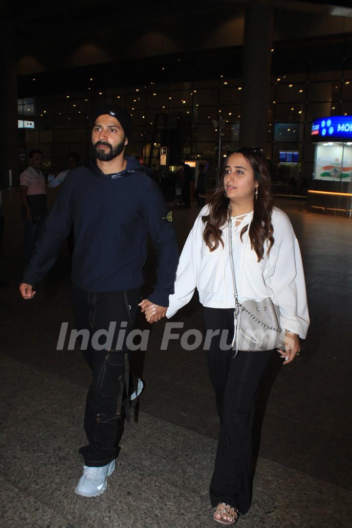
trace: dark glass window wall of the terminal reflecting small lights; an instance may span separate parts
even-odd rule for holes
[[[277,174],[280,152],[298,151],[301,175],[307,177],[314,161],[311,121],[352,115],[352,63],[348,59],[352,38],[278,42],[274,49],[267,155]],[[189,77],[178,82],[149,79],[121,86],[118,81],[116,87],[101,89],[92,74],[94,81],[86,91],[18,99],[18,119],[35,124],[34,130],[23,132],[26,150],[45,150],[45,161],[55,166],[65,164],[70,150],[77,150],[85,161],[91,153],[91,109],[105,102],[125,106],[131,114],[134,132],[127,154],[142,155],[158,169],[162,145],[169,146],[175,163],[185,155],[191,159],[202,156],[213,163],[214,120],[221,117],[226,124],[222,155],[239,145],[242,82],[220,69],[217,77],[210,79],[193,79],[192,64],[188,71]]]

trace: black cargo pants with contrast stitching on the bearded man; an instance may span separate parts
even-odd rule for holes
[[[89,444],[80,448],[86,466],[105,466],[118,454],[123,432],[122,401],[126,401],[127,396],[125,369],[130,356],[126,338],[135,327],[139,302],[140,288],[93,293],[74,285],[72,287],[76,328],[89,331],[88,347],[83,354],[93,374],[84,416],[84,430]],[[105,335],[99,337],[99,331],[111,329],[111,322],[116,322],[112,344]],[[82,341],[84,343],[84,337]],[[103,350],[97,350],[105,341]],[[128,393],[133,391],[130,387]]]

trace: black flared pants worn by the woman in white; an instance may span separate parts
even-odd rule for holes
[[[233,308],[203,308],[205,333],[214,335],[207,351],[208,368],[220,417],[214,473],[210,485],[212,506],[225,502],[241,513],[251,504],[252,428],[255,400],[262,376],[274,351],[244,352],[221,350],[221,332],[229,331],[231,345],[234,331]]]

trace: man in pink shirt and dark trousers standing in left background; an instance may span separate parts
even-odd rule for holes
[[[43,153],[31,150],[30,166],[20,176],[24,220],[24,265],[31,259],[35,242],[46,216],[45,178],[41,171]]]

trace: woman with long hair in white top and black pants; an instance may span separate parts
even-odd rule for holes
[[[299,354],[299,337],[306,337],[309,326],[298,241],[286,214],[273,206],[268,164],[258,150],[239,148],[227,156],[220,183],[180,256],[167,317],[188,303],[195,288],[203,305],[204,349],[221,425],[210,485],[213,518],[234,524],[251,503],[255,400],[277,350],[237,350],[235,295],[241,304],[269,298],[278,307],[284,365]],[[153,307],[145,313],[148,320]]]

